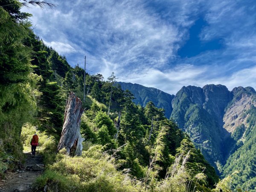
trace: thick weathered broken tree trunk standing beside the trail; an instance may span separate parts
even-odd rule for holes
[[[66,101],[64,124],[57,152],[65,147],[67,154],[81,156],[83,149],[82,142],[84,139],[80,133],[80,124],[83,111],[81,100],[75,93],[71,92]]]

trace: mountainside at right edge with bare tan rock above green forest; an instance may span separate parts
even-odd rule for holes
[[[256,92],[252,87],[236,87],[234,98],[226,108],[224,128],[235,140],[227,154],[222,176],[238,171],[233,186],[256,190]],[[231,154],[231,155],[230,155]]]

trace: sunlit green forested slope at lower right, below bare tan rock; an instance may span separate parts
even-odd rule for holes
[[[246,113],[250,116],[247,119],[243,144],[227,159],[222,176],[228,177],[229,174],[238,171],[233,176],[231,189],[245,191],[248,188],[248,192],[253,192],[256,190],[256,108],[251,107]]]

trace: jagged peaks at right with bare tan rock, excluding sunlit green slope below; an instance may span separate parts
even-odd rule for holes
[[[217,164],[224,165],[232,154],[236,145],[232,134],[241,124],[246,127],[251,115],[246,111],[256,106],[255,98],[252,87],[232,91],[220,84],[182,87],[172,100],[171,117],[217,170]]]

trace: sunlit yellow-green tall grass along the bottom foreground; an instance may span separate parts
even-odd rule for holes
[[[175,157],[174,163],[166,172],[162,180],[158,177],[160,166],[158,162],[162,158],[163,138],[166,130],[160,131],[159,137],[152,148],[152,156],[149,165],[145,169],[144,177],[134,179],[129,174],[129,169],[120,171],[119,167],[125,160],[119,160],[118,151],[105,151],[106,146],[87,145],[87,151],[82,151],[81,157],[70,157],[66,150],[62,149],[57,155],[54,141],[46,140],[42,146],[44,151],[49,153],[51,163],[47,165],[47,171],[37,178],[35,189],[48,187],[48,191],[59,192],[196,192],[210,191],[209,188],[201,186],[206,183],[206,176],[203,172],[192,176],[186,169],[190,151],[186,154],[180,153]],[[54,152],[53,152],[54,151]],[[186,150],[183,150],[186,151]],[[54,162],[54,163],[52,163]],[[231,178],[231,176],[230,176]],[[215,192],[230,192],[230,178],[220,180],[216,184]]]

